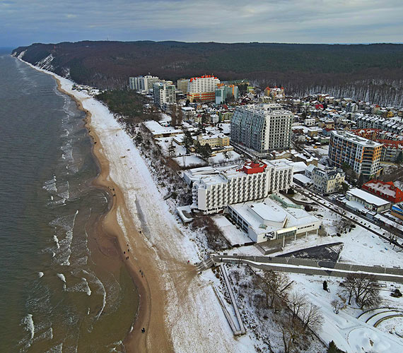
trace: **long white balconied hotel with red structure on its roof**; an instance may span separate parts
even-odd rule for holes
[[[192,208],[218,213],[227,205],[266,198],[286,190],[293,179],[293,164],[286,160],[248,162],[242,167],[190,169],[184,179],[192,186]]]

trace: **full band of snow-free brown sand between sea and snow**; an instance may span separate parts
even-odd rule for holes
[[[98,161],[100,168],[100,174],[93,184],[107,191],[112,198],[109,211],[100,218],[97,225],[96,243],[100,251],[107,256],[113,256],[116,255],[114,254],[116,251],[119,252],[139,293],[139,309],[134,318],[133,330],[127,333],[124,339],[124,346],[127,352],[173,352],[173,344],[165,325],[166,295],[163,279],[157,264],[153,261],[155,250],[139,234],[130,217],[122,191],[109,177],[110,163],[103,153],[100,138],[91,126],[91,113],[83,108],[81,101],[74,95],[63,90],[59,80],[55,79],[58,90],[69,95],[76,102],[78,109],[86,113],[85,126],[93,143],[95,160]],[[117,210],[122,215],[124,227],[129,234],[129,243],[125,240],[117,221]],[[115,244],[115,247],[112,247],[111,243]],[[144,273],[143,276],[141,276],[141,270]],[[142,333],[141,328],[145,328],[146,332]]]

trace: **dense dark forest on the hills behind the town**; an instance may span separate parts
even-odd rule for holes
[[[98,88],[121,89],[129,76],[147,73],[170,80],[214,73],[262,88],[284,85],[288,95],[327,92],[403,104],[403,44],[86,41],[32,44],[13,55]]]

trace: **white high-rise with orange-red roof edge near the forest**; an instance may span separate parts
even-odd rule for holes
[[[190,102],[215,102],[218,83],[220,80],[212,75],[190,78],[187,84],[187,99]]]

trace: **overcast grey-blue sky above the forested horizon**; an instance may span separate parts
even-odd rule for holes
[[[0,47],[107,39],[368,43],[402,38],[403,0],[0,0]]]

